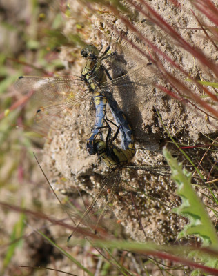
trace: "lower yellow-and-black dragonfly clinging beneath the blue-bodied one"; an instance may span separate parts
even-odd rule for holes
[[[95,152],[97,152],[99,158],[109,168],[109,172],[105,179],[103,179],[101,186],[97,190],[97,193],[92,199],[88,208],[86,208],[86,211],[81,215],[80,218],[78,218],[77,221],[79,222],[77,222],[77,226],[69,236],[68,240],[70,240],[74,233],[79,233],[81,231],[81,227],[89,228],[92,233],[100,233],[100,235],[103,231],[102,233],[105,235],[105,228],[108,230],[110,226],[115,226],[115,223],[113,222],[114,220],[111,219],[114,217],[114,213],[116,214],[115,217],[117,217],[118,221],[123,221],[126,223],[127,218],[125,215],[123,217],[123,215],[121,215],[117,209],[123,206],[122,208],[128,210],[130,206],[133,206],[133,195],[138,197],[140,193],[141,199],[144,200],[144,202],[142,201],[143,205],[146,205],[146,195],[142,195],[142,192],[139,191],[136,186],[131,185],[133,184],[134,180],[130,179],[129,184],[125,183],[125,179],[123,177],[125,170],[130,171],[130,177],[133,177],[134,172],[139,170],[145,171],[146,174],[149,175],[162,175],[164,177],[170,176],[170,170],[168,166],[131,165],[130,161],[135,155],[135,141],[134,136],[132,135],[132,128],[128,124],[125,115],[123,115],[123,120],[119,131],[121,132],[121,139],[123,139],[123,137],[124,140],[126,139],[126,141],[122,141],[122,144],[126,144],[125,149],[119,146],[115,146],[115,144],[112,143],[112,141],[115,140],[115,137],[111,138],[110,126],[108,127],[106,141],[103,141],[102,135],[101,139],[95,140]],[[131,133],[131,136],[126,135],[126,133]],[[117,136],[117,133],[115,136]],[[129,139],[130,137],[131,139]],[[154,199],[154,201],[159,201],[159,199],[155,199],[155,196],[153,196],[152,199]],[[168,208],[168,210],[174,206],[169,206],[166,203],[160,201],[158,204],[165,205],[165,208]]]

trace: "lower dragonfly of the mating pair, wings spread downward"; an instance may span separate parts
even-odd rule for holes
[[[117,111],[118,112],[118,111]],[[98,157],[103,160],[106,166],[109,168],[108,175],[103,179],[97,194],[86,209],[85,213],[81,215],[79,222],[75,230],[68,237],[70,241],[72,235],[75,232],[79,232],[81,226],[91,228],[95,234],[102,230],[101,225],[104,224],[105,218],[112,217],[112,213],[115,212],[115,198],[119,197],[119,193],[123,191],[123,170],[128,168],[130,170],[145,170],[147,173],[155,175],[170,175],[168,166],[134,166],[130,165],[130,161],[135,155],[135,141],[132,133],[132,128],[126,119],[126,116],[121,110],[119,110],[122,118],[118,128],[121,132],[122,145],[126,145],[125,149],[115,146],[112,142],[117,136],[117,132],[114,137],[111,137],[111,128],[108,126],[108,135],[106,141],[101,139],[95,140],[95,152]],[[116,117],[116,116],[115,116]],[[133,190],[131,193],[136,193]],[[126,199],[125,199],[125,202]],[[109,219],[110,221],[110,219]],[[106,225],[108,228],[108,225]]]

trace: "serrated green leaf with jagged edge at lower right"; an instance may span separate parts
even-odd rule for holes
[[[178,185],[177,195],[182,199],[182,204],[174,211],[190,220],[190,223],[179,233],[179,237],[197,235],[204,246],[218,246],[217,232],[208,217],[204,204],[192,188],[190,172],[184,170],[182,164],[177,164],[177,159],[173,158],[166,148],[163,152],[172,170],[172,179]]]

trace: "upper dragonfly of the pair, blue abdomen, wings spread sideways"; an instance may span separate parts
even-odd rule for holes
[[[95,108],[95,126],[86,141],[86,148],[90,155],[95,152],[95,139],[103,126],[108,103],[115,120],[120,121],[117,112],[116,95],[121,95],[122,100],[129,99],[131,90],[135,86],[148,87],[157,80],[157,75],[152,71],[151,63],[141,63],[141,57],[132,54],[131,62],[125,61],[125,56],[134,52],[127,41],[114,43],[113,50],[109,45],[100,55],[94,45],[88,45],[81,50],[81,57],[86,64],[81,70],[81,76],[62,75],[60,77],[32,77],[21,76],[15,81],[14,88],[23,95],[30,95],[33,99],[43,103],[35,113],[34,120],[37,132],[47,132],[54,126],[56,119],[61,119],[73,112],[73,106],[81,105],[92,97]],[[111,71],[111,72],[109,72]],[[111,77],[113,75],[113,78]],[[144,97],[144,91],[140,97]],[[133,104],[136,95],[132,95]],[[130,102],[130,101],[129,101]],[[116,114],[117,112],[117,114]],[[118,125],[121,126],[121,124]],[[123,139],[124,141],[124,139]],[[126,146],[124,145],[124,148]]]

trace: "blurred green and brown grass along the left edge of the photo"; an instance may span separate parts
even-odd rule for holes
[[[40,155],[42,144],[16,128],[29,120],[31,106],[26,108],[13,83],[20,75],[48,75],[63,67],[58,58],[59,46],[67,41],[61,35],[63,15],[57,1],[15,0],[1,1],[0,18],[0,195],[8,204],[40,210],[50,193],[32,151]],[[23,240],[19,240],[24,233],[32,233],[26,229],[30,220],[2,208],[0,214],[0,274],[29,275],[18,265],[28,264],[28,255],[33,265],[41,263],[37,248],[32,253],[28,249],[25,255]]]

